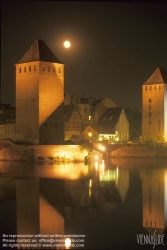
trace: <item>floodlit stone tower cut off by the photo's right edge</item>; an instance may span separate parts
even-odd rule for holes
[[[142,86],[142,140],[167,142],[167,72],[157,68]]]

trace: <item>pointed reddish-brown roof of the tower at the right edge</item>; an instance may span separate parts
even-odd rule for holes
[[[163,68],[157,68],[154,73],[148,78],[144,85],[167,83],[167,72]]]

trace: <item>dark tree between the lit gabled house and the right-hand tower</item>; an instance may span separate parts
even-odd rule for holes
[[[139,141],[142,133],[142,113],[137,109],[126,108],[125,114],[129,122],[129,139]]]

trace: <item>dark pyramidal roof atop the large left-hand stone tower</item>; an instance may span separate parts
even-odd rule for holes
[[[42,40],[36,40],[19,63],[44,61],[62,64]]]

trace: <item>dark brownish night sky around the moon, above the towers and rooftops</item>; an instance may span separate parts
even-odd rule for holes
[[[14,64],[36,39],[65,64],[65,92],[124,108],[141,110],[142,84],[167,70],[167,3],[6,0],[1,10],[2,103],[15,106]]]

